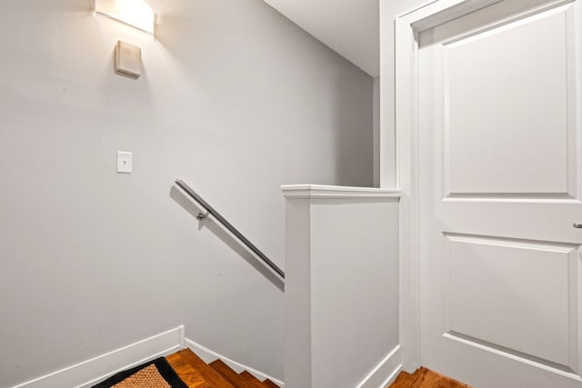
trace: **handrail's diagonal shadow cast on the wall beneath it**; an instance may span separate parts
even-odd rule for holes
[[[196,219],[198,222],[198,230],[206,227],[210,232],[215,234],[216,237],[235,251],[236,254],[245,259],[246,263],[251,264],[256,271],[265,276],[269,282],[275,285],[282,292],[285,291],[285,284],[283,281],[276,277],[275,274],[271,273],[271,271],[269,271],[254,254],[248,252],[243,244],[233,237],[232,234],[228,233],[220,224],[216,223],[214,219],[206,218],[204,220],[198,220],[196,216],[201,212],[205,213],[204,209],[194,204],[185,194],[178,190],[176,186],[172,186],[170,189],[170,197],[176,201],[176,204],[179,204],[184,210],[186,210],[186,212]]]

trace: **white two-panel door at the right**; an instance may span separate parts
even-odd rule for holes
[[[421,363],[582,387],[582,0],[505,0],[420,34]]]

